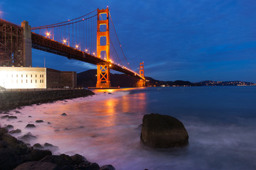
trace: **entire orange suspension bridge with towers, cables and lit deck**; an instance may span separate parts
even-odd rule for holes
[[[137,77],[145,84],[144,62],[139,63],[139,73],[129,66],[109,8],[98,8],[78,18],[33,28],[27,21],[20,27],[0,20],[0,66],[31,66],[31,47],[96,64],[98,88],[111,86],[110,69]]]

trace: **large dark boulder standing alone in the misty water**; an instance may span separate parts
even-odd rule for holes
[[[178,119],[151,113],[143,117],[141,140],[149,147],[184,147],[188,145],[188,132]]]

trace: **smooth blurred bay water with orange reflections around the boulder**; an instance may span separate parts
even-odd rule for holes
[[[104,94],[104,92],[107,92]],[[256,169],[256,86],[95,90],[97,95],[23,107],[1,119],[100,166],[139,169]],[[108,94],[112,93],[112,94]],[[68,116],[61,116],[66,113]],[[144,114],[172,115],[185,125],[188,147],[151,149],[139,139]],[[31,115],[31,118],[28,118]],[[35,123],[44,120],[44,123]],[[50,122],[50,124],[48,124]],[[36,124],[26,129],[28,123]]]

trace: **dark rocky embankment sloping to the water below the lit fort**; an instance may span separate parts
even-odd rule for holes
[[[0,111],[8,111],[21,106],[30,106],[38,103],[50,103],[69,98],[79,98],[94,95],[86,89],[65,89],[50,91],[1,91]]]

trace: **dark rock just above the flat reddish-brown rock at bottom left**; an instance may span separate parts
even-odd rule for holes
[[[26,155],[24,162],[35,162],[40,161],[46,156],[52,155],[48,150],[33,149],[30,154]]]

